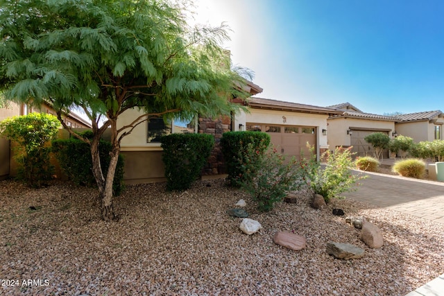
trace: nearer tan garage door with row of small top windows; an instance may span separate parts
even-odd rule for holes
[[[246,130],[266,132],[270,135],[273,146],[289,157],[300,159],[302,153],[305,157],[310,155],[307,142],[316,148],[316,128],[311,126],[247,123]]]

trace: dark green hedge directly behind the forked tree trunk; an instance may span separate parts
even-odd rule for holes
[[[85,137],[90,132],[85,132]],[[97,186],[92,174],[92,157],[90,146],[78,139],[58,139],[52,142],[53,152],[62,168],[63,173],[69,177],[75,184],[80,186]],[[108,172],[110,164],[111,143],[109,141],[100,141],[99,154],[101,157],[101,167],[103,171]],[[116,173],[114,174],[114,182],[112,184],[113,195],[118,196],[124,189],[123,184],[123,157],[119,155],[117,161]]]

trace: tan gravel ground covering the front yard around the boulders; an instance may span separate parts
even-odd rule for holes
[[[405,295],[443,272],[442,225],[352,200],[318,211],[300,192],[298,203],[261,214],[223,180],[183,193],[143,184],[116,198],[119,220],[105,223],[96,195],[62,182],[38,190],[0,182],[0,279],[13,280],[0,294]],[[252,236],[225,214],[241,198],[264,227]],[[384,246],[366,247],[334,207],[373,221]],[[307,247],[275,245],[273,234],[284,230],[305,236]],[[327,241],[358,245],[366,256],[334,259]]]

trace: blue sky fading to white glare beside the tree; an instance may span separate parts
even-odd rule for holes
[[[195,0],[196,24],[254,71],[259,98],[363,112],[444,111],[442,0]]]

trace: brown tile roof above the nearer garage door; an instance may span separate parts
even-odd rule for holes
[[[314,105],[305,105],[300,103],[291,103],[284,101],[271,100],[269,98],[248,98],[248,105],[251,107],[259,107],[274,110],[293,110],[298,112],[307,112],[315,114],[342,114],[339,110],[328,107],[319,107]]]

